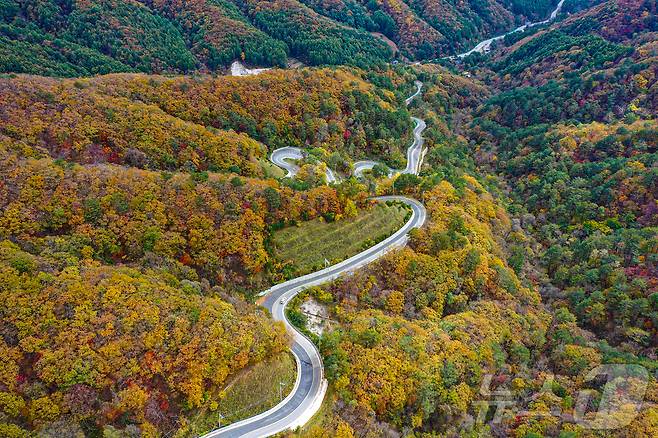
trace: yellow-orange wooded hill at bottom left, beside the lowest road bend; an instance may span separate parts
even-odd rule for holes
[[[286,348],[283,326],[252,305],[157,269],[101,266],[63,240],[39,255],[0,243],[3,436],[175,430],[208,388]]]

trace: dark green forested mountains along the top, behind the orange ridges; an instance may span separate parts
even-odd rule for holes
[[[215,71],[236,59],[368,66],[451,54],[555,2],[2,0],[0,71],[49,76]]]

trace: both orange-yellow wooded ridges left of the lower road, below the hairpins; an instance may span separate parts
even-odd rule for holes
[[[354,208],[326,186],[0,146],[3,436],[166,433],[222,408],[217,388],[287,346],[245,301],[277,272],[269,227]]]

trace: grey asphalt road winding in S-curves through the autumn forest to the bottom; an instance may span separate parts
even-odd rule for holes
[[[422,84],[418,85],[417,83],[417,87],[416,93],[407,99],[407,104],[411,101],[410,99],[420,94]],[[422,157],[423,141],[420,133],[425,129],[425,122],[421,119],[413,119],[416,122],[414,142],[407,151],[409,161],[403,171],[407,173],[416,173],[418,171]],[[287,170],[289,175],[294,175],[299,167],[285,160],[296,157],[297,155],[293,154],[297,154],[298,151],[301,154],[301,150],[297,148],[283,149],[285,150],[277,149],[274,151],[270,159],[276,165]],[[374,161],[368,163],[373,163],[373,166],[377,164]],[[285,430],[303,426],[320,409],[327,389],[327,380],[324,378],[320,352],[313,342],[290,324],[285,316],[285,307],[302,290],[334,280],[380,258],[393,248],[406,245],[409,231],[413,228],[419,228],[425,223],[427,217],[425,207],[415,199],[403,196],[381,196],[375,199],[384,202],[403,202],[411,208],[411,217],[393,235],[365,251],[328,268],[272,286],[260,294],[265,297],[263,307],[270,311],[275,321],[282,321],[292,335],[291,352],[297,363],[297,379],[290,394],[268,411],[213,430],[204,435],[203,438],[256,438],[275,435]]]

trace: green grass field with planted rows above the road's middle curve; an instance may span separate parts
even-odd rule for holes
[[[401,205],[377,204],[357,217],[325,222],[313,219],[276,231],[274,256],[292,263],[292,274],[300,275],[324,267],[324,260],[338,263],[358,254],[397,231],[407,215]]]

